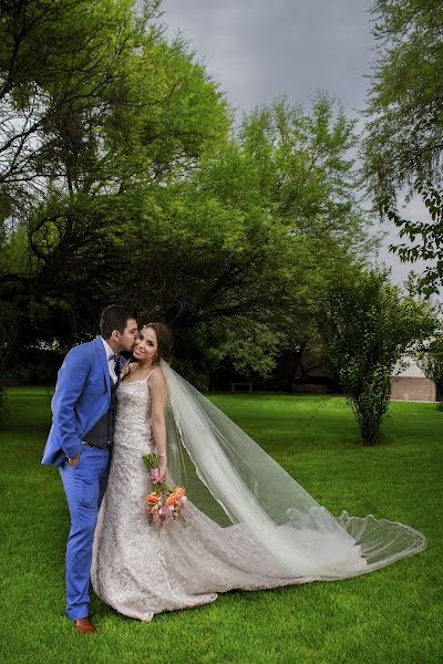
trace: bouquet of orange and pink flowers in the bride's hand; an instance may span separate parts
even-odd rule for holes
[[[154,491],[146,496],[146,509],[152,525],[159,528],[181,516],[187,498],[183,487],[169,487],[166,483],[159,481],[158,460],[155,454],[144,456],[143,460],[150,469],[154,485]]]

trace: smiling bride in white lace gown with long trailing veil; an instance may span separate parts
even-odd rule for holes
[[[95,593],[143,621],[213,602],[233,589],[334,580],[371,572],[422,551],[424,536],[402,523],[339,518],[321,507],[245,432],[167,363],[169,329],[140,331],[117,392],[114,447],[94,537]],[[188,501],[154,528],[143,455]]]

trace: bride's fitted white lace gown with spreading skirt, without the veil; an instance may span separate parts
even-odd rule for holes
[[[119,613],[143,621],[188,609],[233,589],[259,590],[315,578],[278,575],[270,559],[236,526],[220,527],[186,504],[186,518],[159,530],[145,499],[153,490],[142,456],[155,452],[146,381],[123,382],[110,478],[94,536],[91,580],[95,594]]]

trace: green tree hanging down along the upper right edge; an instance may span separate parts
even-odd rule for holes
[[[440,0],[377,0],[372,13],[378,60],[365,111],[363,174],[378,209],[408,240],[391,250],[403,261],[434,260],[419,281],[430,294],[443,283],[443,7]],[[422,197],[427,221],[399,215],[404,193]]]

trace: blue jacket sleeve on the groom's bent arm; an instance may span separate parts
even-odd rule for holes
[[[55,394],[52,398],[53,426],[60,445],[68,458],[83,452],[82,442],[75,430],[75,404],[83,391],[90,372],[90,363],[79,347],[71,349],[60,367]]]

